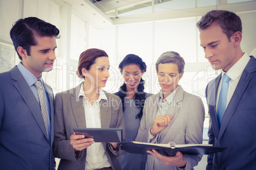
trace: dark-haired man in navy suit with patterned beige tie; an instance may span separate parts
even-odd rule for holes
[[[21,62],[0,74],[1,169],[55,169],[53,92],[41,74],[53,68],[58,35],[59,29],[36,17],[11,28]]]

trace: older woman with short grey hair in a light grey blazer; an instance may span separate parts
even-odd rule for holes
[[[187,93],[178,84],[185,62],[176,52],[163,53],[155,63],[159,84],[156,95],[146,98],[136,141],[176,144],[202,143],[204,106],[201,98]],[[172,157],[148,150],[146,169],[193,169],[201,155],[177,152]]]

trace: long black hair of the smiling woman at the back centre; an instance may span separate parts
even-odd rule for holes
[[[138,55],[129,54],[129,55],[125,56],[125,58],[119,64],[118,68],[120,70],[123,70],[124,67],[127,65],[138,65],[141,72],[146,72],[146,63],[143,62],[143,60]],[[138,91],[133,96],[134,104],[136,105],[137,108],[140,109],[139,114],[136,115],[136,119],[141,119],[142,114],[143,114],[142,111],[143,111],[143,107],[144,107],[144,103],[145,103],[145,99],[146,99],[146,94],[144,92],[144,89],[145,89],[144,84],[145,84],[145,81],[141,78],[141,80],[139,81],[138,89],[137,89]],[[115,93],[115,95],[117,95],[121,98],[122,105],[123,105],[123,111],[124,111],[125,110],[124,98],[127,95],[125,82],[120,87],[119,91],[117,93]]]

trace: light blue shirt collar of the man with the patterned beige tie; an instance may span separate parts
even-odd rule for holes
[[[34,82],[36,82],[37,80],[40,80],[41,82],[43,82],[42,76],[40,76],[38,79],[36,79],[36,76],[34,76],[34,74],[32,74],[32,72],[27,70],[27,68],[25,68],[21,62],[18,63],[17,67],[18,67],[18,70],[20,70],[20,73],[24,77],[27,84],[29,84],[29,86],[32,86],[34,84]]]

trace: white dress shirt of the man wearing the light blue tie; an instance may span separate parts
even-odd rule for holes
[[[227,74],[231,80],[229,81],[229,89],[227,91],[227,106],[229,105],[229,101],[231,101],[231,98],[234,94],[234,91],[236,89],[236,86],[238,86],[238,82],[241,78],[241,75],[243,73],[243,70],[245,70],[246,65],[248,64],[250,60],[250,56],[248,56],[246,53],[236,62],[231,69],[229,69],[227,72],[224,72],[222,70],[222,77],[224,74]],[[218,95],[217,95],[217,104],[216,104],[216,112],[218,113],[218,97],[220,96],[220,89],[222,88],[222,79],[220,80],[220,84],[218,84]]]

